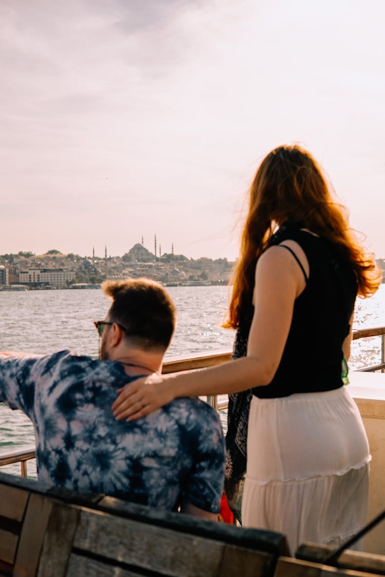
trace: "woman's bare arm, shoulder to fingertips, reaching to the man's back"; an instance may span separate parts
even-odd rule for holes
[[[181,396],[219,395],[268,385],[281,361],[294,301],[303,288],[303,274],[289,251],[279,246],[268,249],[256,267],[247,356],[200,372],[138,379],[118,391],[115,417],[144,417]]]

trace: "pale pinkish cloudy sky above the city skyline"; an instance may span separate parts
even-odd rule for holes
[[[0,254],[238,254],[275,146],[385,258],[383,0],[1,0]]]

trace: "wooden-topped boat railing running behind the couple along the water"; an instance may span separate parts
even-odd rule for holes
[[[364,339],[372,336],[381,337],[381,361],[377,365],[365,366],[357,369],[364,372],[375,372],[385,370],[385,327],[362,328],[353,331],[353,340]],[[169,358],[163,363],[163,374],[178,373],[186,370],[201,370],[210,366],[220,365],[230,361],[231,351],[215,351],[207,354],[197,354],[188,358]],[[225,398],[223,398],[225,397]],[[227,395],[207,396],[207,402],[217,411],[226,410],[229,405]],[[27,477],[27,461],[35,459],[35,446],[28,445],[14,451],[0,453],[0,467],[12,463],[20,462],[21,476]]]

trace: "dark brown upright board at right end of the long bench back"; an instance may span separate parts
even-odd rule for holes
[[[275,561],[270,553],[226,545],[218,577],[272,577]]]

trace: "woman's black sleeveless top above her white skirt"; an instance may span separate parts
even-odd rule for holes
[[[357,295],[356,275],[352,265],[339,257],[335,246],[325,239],[299,226],[284,224],[272,237],[270,246],[286,239],[296,241],[304,250],[310,272],[304,291],[294,303],[289,335],[275,376],[266,387],[252,389],[259,398],[331,391],[342,386],[342,343],[350,330]],[[247,308],[247,336],[242,338],[241,323],[236,343],[245,344],[248,338],[251,297]]]

